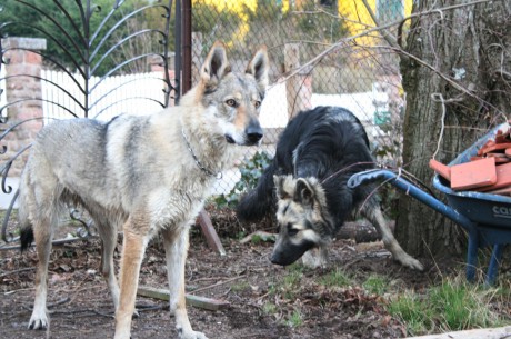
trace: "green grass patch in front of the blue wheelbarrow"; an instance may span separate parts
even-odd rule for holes
[[[407,291],[390,300],[389,312],[407,323],[411,336],[503,325],[490,307],[495,290],[447,279],[425,293]]]

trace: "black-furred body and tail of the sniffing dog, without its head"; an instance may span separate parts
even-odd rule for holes
[[[324,188],[328,210],[339,229],[373,189],[371,186],[349,189],[348,179],[373,167],[365,131],[350,111],[318,107],[301,112],[280,136],[273,161],[259,179],[258,187],[241,199],[237,215],[241,220],[258,221],[274,213],[273,175],[315,177]],[[374,202],[371,198],[365,203]]]

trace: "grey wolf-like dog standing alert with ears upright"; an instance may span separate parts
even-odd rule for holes
[[[39,259],[36,301],[29,328],[49,325],[47,279],[58,215],[68,203],[92,217],[102,242],[101,272],[116,308],[116,339],[130,338],[139,271],[146,247],[162,235],[170,310],[180,338],[193,331],[184,300],[189,228],[217,173],[263,136],[259,110],[268,84],[264,47],[244,72],[233,72],[217,42],[200,69],[199,83],[178,107],[146,117],[119,116],[109,122],[71,119],[38,134],[22,173],[22,247],[36,240]],[[118,230],[123,231],[119,280],[113,267]]]

